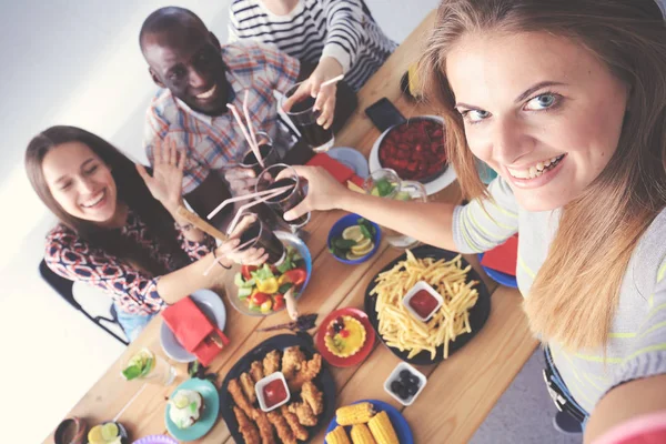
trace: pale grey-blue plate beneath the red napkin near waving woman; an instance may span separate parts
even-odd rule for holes
[[[226,310],[218,293],[205,289],[196,290],[192,293],[192,301],[194,301],[194,304],[196,304],[209,321],[218,325],[218,329],[221,331],[224,331]],[[160,330],[160,343],[164,353],[175,362],[193,362],[196,359],[196,356],[183,349],[171,329],[163,321]]]

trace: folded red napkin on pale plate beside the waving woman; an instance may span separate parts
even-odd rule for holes
[[[203,365],[209,365],[222,351],[222,347],[209,337],[211,334],[216,334],[223,345],[229,344],[224,333],[205,317],[190,296],[167,307],[162,317],[178,342]]]

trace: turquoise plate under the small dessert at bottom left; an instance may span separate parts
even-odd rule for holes
[[[167,404],[167,408],[164,411],[167,430],[171,436],[179,441],[199,440],[201,436],[209,433],[218,421],[218,413],[220,413],[220,395],[218,394],[218,389],[210,381],[191,379],[175,387],[169,397],[173,397],[179,390],[194,390],[199,392],[201,397],[203,397],[203,412],[201,413],[199,421],[196,421],[191,427],[178,428],[178,426],[169,417],[171,405]]]

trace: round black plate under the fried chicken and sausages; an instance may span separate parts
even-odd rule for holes
[[[238,444],[245,444],[243,435],[239,432],[239,423],[236,422],[233,413],[233,397],[229,394],[226,386],[229,381],[240,377],[243,372],[250,370],[250,365],[253,361],[263,360],[263,357],[273,350],[284,350],[290,346],[299,345],[307,360],[312,359],[314,353],[317,353],[311,340],[296,336],[294,334],[279,334],[270,337],[248,352],[243,357],[235,363],[231,371],[226,374],[226,377],[222,382],[222,389],[220,390],[220,412],[226,427],[229,428],[231,436]],[[335,382],[326,367],[325,361],[322,359],[322,371],[312,381],[324,393],[324,413],[320,415],[319,422],[313,427],[305,427],[310,436],[314,436],[319,433],[322,426],[329,423],[329,420],[335,415]],[[293,395],[292,395],[293,398]]]

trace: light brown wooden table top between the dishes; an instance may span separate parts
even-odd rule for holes
[[[359,108],[347,125],[336,137],[336,145],[354,147],[366,155],[380,132],[365,115],[365,108],[382,97],[389,98],[405,117],[432,113],[423,105],[406,101],[398,91],[400,79],[408,64],[421,53],[424,36],[432,29],[434,12],[416,28],[397,48],[395,53],[376,72],[359,94]],[[457,202],[461,199],[457,183],[452,184],[435,199]],[[326,251],[326,236],[340,211],[313,214],[307,225],[311,238],[307,246],[313,258],[313,275],[306,292],[300,300],[301,313],[325,315],[343,306],[363,307],[364,292],[370,280],[390,261],[401,254],[385,243],[370,261],[350,266],[336,261]],[[475,258],[466,258],[477,270]],[[464,443],[484,421],[502,393],[511,384],[525,361],[536,346],[526,319],[521,309],[522,296],[516,290],[497,286],[482,272],[493,292],[492,312],[485,327],[464,349],[447,361],[423,366],[420,370],[428,376],[427,387],[410,407],[402,407],[383,390],[383,381],[398,363],[384,345],[377,342],[371,355],[361,365],[349,369],[331,367],[337,387],[337,405],[345,405],[359,398],[377,398],[393,404],[403,412],[412,426],[416,443]],[[265,327],[286,322],[286,313],[270,317],[249,317],[236,312],[225,301],[228,321],[225,333],[231,344],[213,361],[211,369],[219,374],[219,381],[233,364],[248,351],[265,339],[280,332],[260,333]],[[124,382],[120,377],[120,362],[148,346],[163,354],[160,346],[160,325],[155,317],[143,333],[124,352],[107,374],[79,401],[68,414],[88,420],[90,425],[99,424],[115,416],[134,396],[141,383]],[[179,372],[185,373],[185,364],[176,364]],[[85,369],[80,371],[84,372]],[[179,380],[182,382],[182,379]],[[164,398],[170,387],[148,385],[134,400],[120,422],[134,438],[167,433],[164,425]],[[325,427],[324,427],[325,428]],[[322,443],[324,432],[315,436],[313,443]],[[46,443],[52,443],[49,436]],[[222,418],[212,431],[198,442],[233,443]]]

